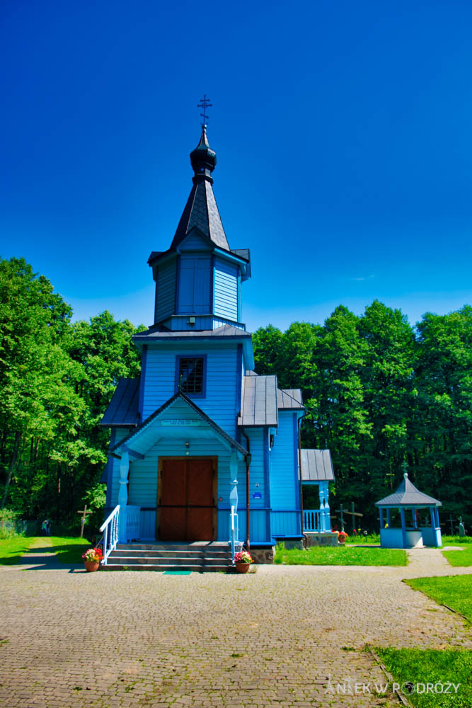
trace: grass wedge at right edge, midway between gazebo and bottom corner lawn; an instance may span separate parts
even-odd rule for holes
[[[452,553],[461,553],[461,551],[452,551]],[[449,605],[452,610],[460,612],[469,622],[472,622],[472,575],[413,578],[404,582],[413,590],[421,590],[437,603]]]

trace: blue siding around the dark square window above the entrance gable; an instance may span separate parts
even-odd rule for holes
[[[223,430],[226,430],[226,433],[235,437],[236,413],[238,413],[236,410],[237,343],[226,345],[218,343],[218,346],[209,348],[207,342],[202,342],[200,349],[195,345],[190,348],[187,343],[178,344],[180,355],[202,356],[203,353],[207,353],[205,398],[195,399],[195,403]],[[149,346],[146,358],[143,419],[146,420],[174,393],[175,348]]]

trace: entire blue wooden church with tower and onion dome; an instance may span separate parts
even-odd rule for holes
[[[302,538],[301,461],[305,483],[320,490],[311,530],[330,530],[333,477],[323,469],[318,479],[313,451],[299,450],[301,391],[254,371],[241,322],[251,258],[226,238],[206,125],[190,160],[171,245],[149,256],[156,297],[154,324],[134,336],[141,375],[120,381],[101,423],[111,428],[105,545],[244,543],[267,561],[278,539]]]

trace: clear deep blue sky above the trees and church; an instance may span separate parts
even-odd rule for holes
[[[248,329],[471,303],[471,26],[468,0],[4,0],[0,253],[151,324],[207,93]]]

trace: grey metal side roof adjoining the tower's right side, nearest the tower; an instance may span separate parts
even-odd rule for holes
[[[278,425],[277,413],[277,377],[254,376],[243,378],[243,398],[238,426]]]

